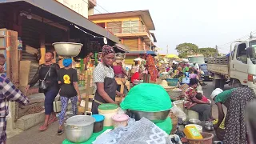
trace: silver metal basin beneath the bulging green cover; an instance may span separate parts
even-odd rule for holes
[[[146,112],[138,110],[127,110],[127,114],[130,118],[134,118],[136,121],[139,121],[141,118],[147,118],[151,122],[163,122],[166,120],[170,114],[170,110],[162,110],[159,112]]]

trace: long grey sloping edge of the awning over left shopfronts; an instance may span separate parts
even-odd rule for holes
[[[102,35],[110,39],[110,41],[119,42],[119,38],[111,34],[109,31],[103,29],[101,26],[94,24],[87,18],[76,13],[74,10],[69,9],[68,7],[62,5],[62,3],[57,2],[56,0],[0,0],[0,5],[10,2],[27,2],[33,6],[36,6],[42,10],[45,10],[51,14],[63,18],[66,21],[74,23],[75,25],[81,26],[86,30],[90,30],[95,34]]]

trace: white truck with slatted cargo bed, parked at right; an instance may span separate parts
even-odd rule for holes
[[[230,54],[224,57],[208,58],[208,70],[214,74],[214,88],[248,86],[256,89],[256,38],[235,42]]]

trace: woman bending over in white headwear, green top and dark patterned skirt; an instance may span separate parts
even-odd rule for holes
[[[211,98],[218,106],[218,123],[214,125],[215,130],[218,129],[225,117],[222,104],[227,107],[223,142],[248,143],[245,108],[248,102],[256,99],[254,90],[249,87],[238,87],[223,92],[221,89],[215,89]]]

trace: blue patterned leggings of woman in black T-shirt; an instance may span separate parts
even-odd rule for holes
[[[71,103],[72,103],[73,115],[77,115],[77,113],[78,113],[78,106],[77,106],[78,97],[77,96],[71,97],[70,100],[71,100]],[[61,102],[62,102],[62,111],[61,111],[61,113],[59,114],[59,117],[58,117],[59,118],[58,119],[59,120],[59,125],[62,125],[62,123],[63,123],[65,113],[66,113],[66,108],[67,108],[67,105],[68,105],[68,102],[69,102],[69,98],[61,96]]]

